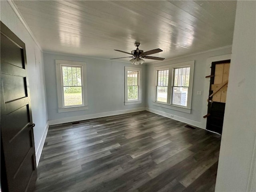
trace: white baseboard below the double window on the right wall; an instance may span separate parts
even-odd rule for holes
[[[155,109],[148,108],[148,107],[146,107],[146,110],[149,111],[149,112],[158,114],[158,115],[162,115],[164,117],[168,117],[170,119],[174,119],[174,120],[177,120],[177,121],[180,121],[180,122],[184,122],[184,123],[187,123],[187,124],[190,124],[190,125],[193,125],[193,126],[196,126],[196,127],[202,128],[202,129],[205,129],[205,128],[202,127],[202,122],[199,122],[199,121],[194,121],[194,120],[187,119],[187,118],[184,118],[184,117],[172,115],[170,113],[162,112],[162,111],[155,110]],[[171,117],[171,116],[173,116],[173,117]]]

